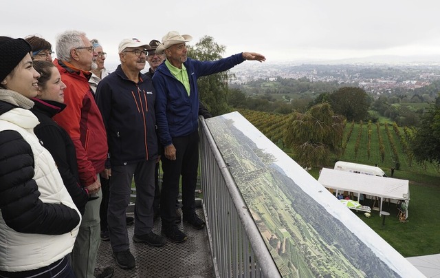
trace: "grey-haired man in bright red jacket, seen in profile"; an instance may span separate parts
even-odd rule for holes
[[[100,244],[99,173],[108,178],[108,173],[104,171],[108,151],[107,135],[94,94],[89,87],[92,60],[97,54],[85,33],[67,31],[59,34],[56,39],[56,56],[54,64],[67,86],[64,90],[67,107],[54,116],[54,120],[72,138],[78,160],[80,184],[89,191],[89,195],[95,197],[94,200],[89,200],[85,207],[83,221],[72,251],[72,267],[78,278],[94,277]]]

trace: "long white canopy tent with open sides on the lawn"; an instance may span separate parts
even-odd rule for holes
[[[318,182],[329,189],[349,191],[380,197],[380,213],[384,199],[403,200],[406,202],[406,217],[408,217],[408,202],[410,189],[408,180],[362,175],[334,169],[323,168]]]

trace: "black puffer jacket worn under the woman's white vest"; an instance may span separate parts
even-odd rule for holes
[[[0,100],[0,115],[17,108]],[[0,131],[0,210],[5,224],[20,233],[62,235],[80,222],[73,208],[43,203],[34,178],[34,156],[18,131]]]

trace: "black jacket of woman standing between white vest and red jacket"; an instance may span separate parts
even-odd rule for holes
[[[52,100],[39,100],[36,98],[33,100],[35,105],[30,111],[40,121],[40,124],[34,128],[34,133],[43,143],[43,147],[52,154],[67,191],[74,200],[78,211],[81,215],[84,215],[85,204],[87,204],[89,195],[79,184],[80,177],[74,142],[72,142],[67,131],[52,120],[52,117],[63,111],[66,105]]]

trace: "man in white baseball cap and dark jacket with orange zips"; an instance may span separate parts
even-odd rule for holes
[[[141,74],[150,47],[137,39],[119,45],[121,64],[98,84],[96,103],[109,138],[111,162],[108,224],[113,257],[120,268],[135,267],[126,231],[126,208],[135,180],[134,242],[163,246],[165,239],[153,233],[154,171],[158,160],[155,132],[155,89]]]

